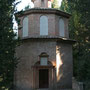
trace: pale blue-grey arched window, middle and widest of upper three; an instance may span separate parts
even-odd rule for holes
[[[48,35],[48,18],[46,16],[40,17],[40,35]]]

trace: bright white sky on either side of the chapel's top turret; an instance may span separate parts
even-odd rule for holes
[[[20,1],[20,0],[16,0],[16,1]],[[59,5],[61,5],[61,1],[62,0],[58,0],[59,1]],[[17,10],[21,11],[22,9],[25,8],[25,6],[30,5],[31,8],[34,7],[33,3],[31,2],[31,0],[21,0],[21,2],[17,5]]]

